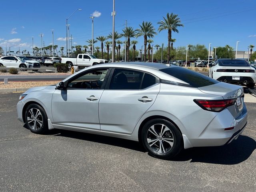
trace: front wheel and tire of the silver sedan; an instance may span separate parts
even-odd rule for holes
[[[36,116],[37,115],[37,116]],[[35,117],[36,116],[36,117]],[[34,126],[36,118],[36,126]],[[31,132],[36,134],[44,134],[48,131],[47,115],[40,105],[30,104],[25,111],[26,126]],[[36,128],[34,128],[36,127]]]

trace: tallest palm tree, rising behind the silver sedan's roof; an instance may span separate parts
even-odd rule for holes
[[[163,17],[164,18],[164,17]],[[178,15],[171,13],[167,13],[166,18],[164,20],[161,20],[158,22],[159,28],[158,31],[162,30],[168,30],[168,50],[167,50],[167,63],[170,61],[170,42],[172,39],[172,31],[178,33],[178,27],[183,27],[184,25],[181,24],[180,18],[178,18]]]

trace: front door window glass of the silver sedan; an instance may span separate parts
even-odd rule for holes
[[[68,83],[68,88],[101,89],[108,69],[91,70]]]

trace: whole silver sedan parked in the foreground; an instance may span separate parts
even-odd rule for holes
[[[36,134],[58,128],[139,141],[152,156],[221,146],[244,130],[241,86],[178,66],[99,64],[20,96],[18,119]]]

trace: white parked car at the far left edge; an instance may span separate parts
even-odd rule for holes
[[[28,58],[23,56],[3,56],[0,58],[0,66],[8,68],[39,68],[40,63],[28,60]]]

